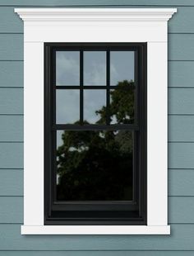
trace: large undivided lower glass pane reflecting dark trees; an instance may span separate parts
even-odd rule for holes
[[[58,201],[132,201],[132,131],[58,133]]]

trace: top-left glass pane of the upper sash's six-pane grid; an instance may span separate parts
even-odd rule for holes
[[[80,52],[56,52],[56,85],[80,85]]]

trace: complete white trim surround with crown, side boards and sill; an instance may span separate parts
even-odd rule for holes
[[[16,8],[24,21],[22,235],[169,235],[168,20],[175,8]],[[44,225],[44,42],[147,42],[147,225]]]

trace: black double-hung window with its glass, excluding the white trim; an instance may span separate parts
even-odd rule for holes
[[[44,223],[145,225],[146,44],[44,55]]]

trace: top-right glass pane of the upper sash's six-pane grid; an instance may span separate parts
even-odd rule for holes
[[[118,85],[124,80],[134,81],[134,52],[111,51],[110,85]]]

